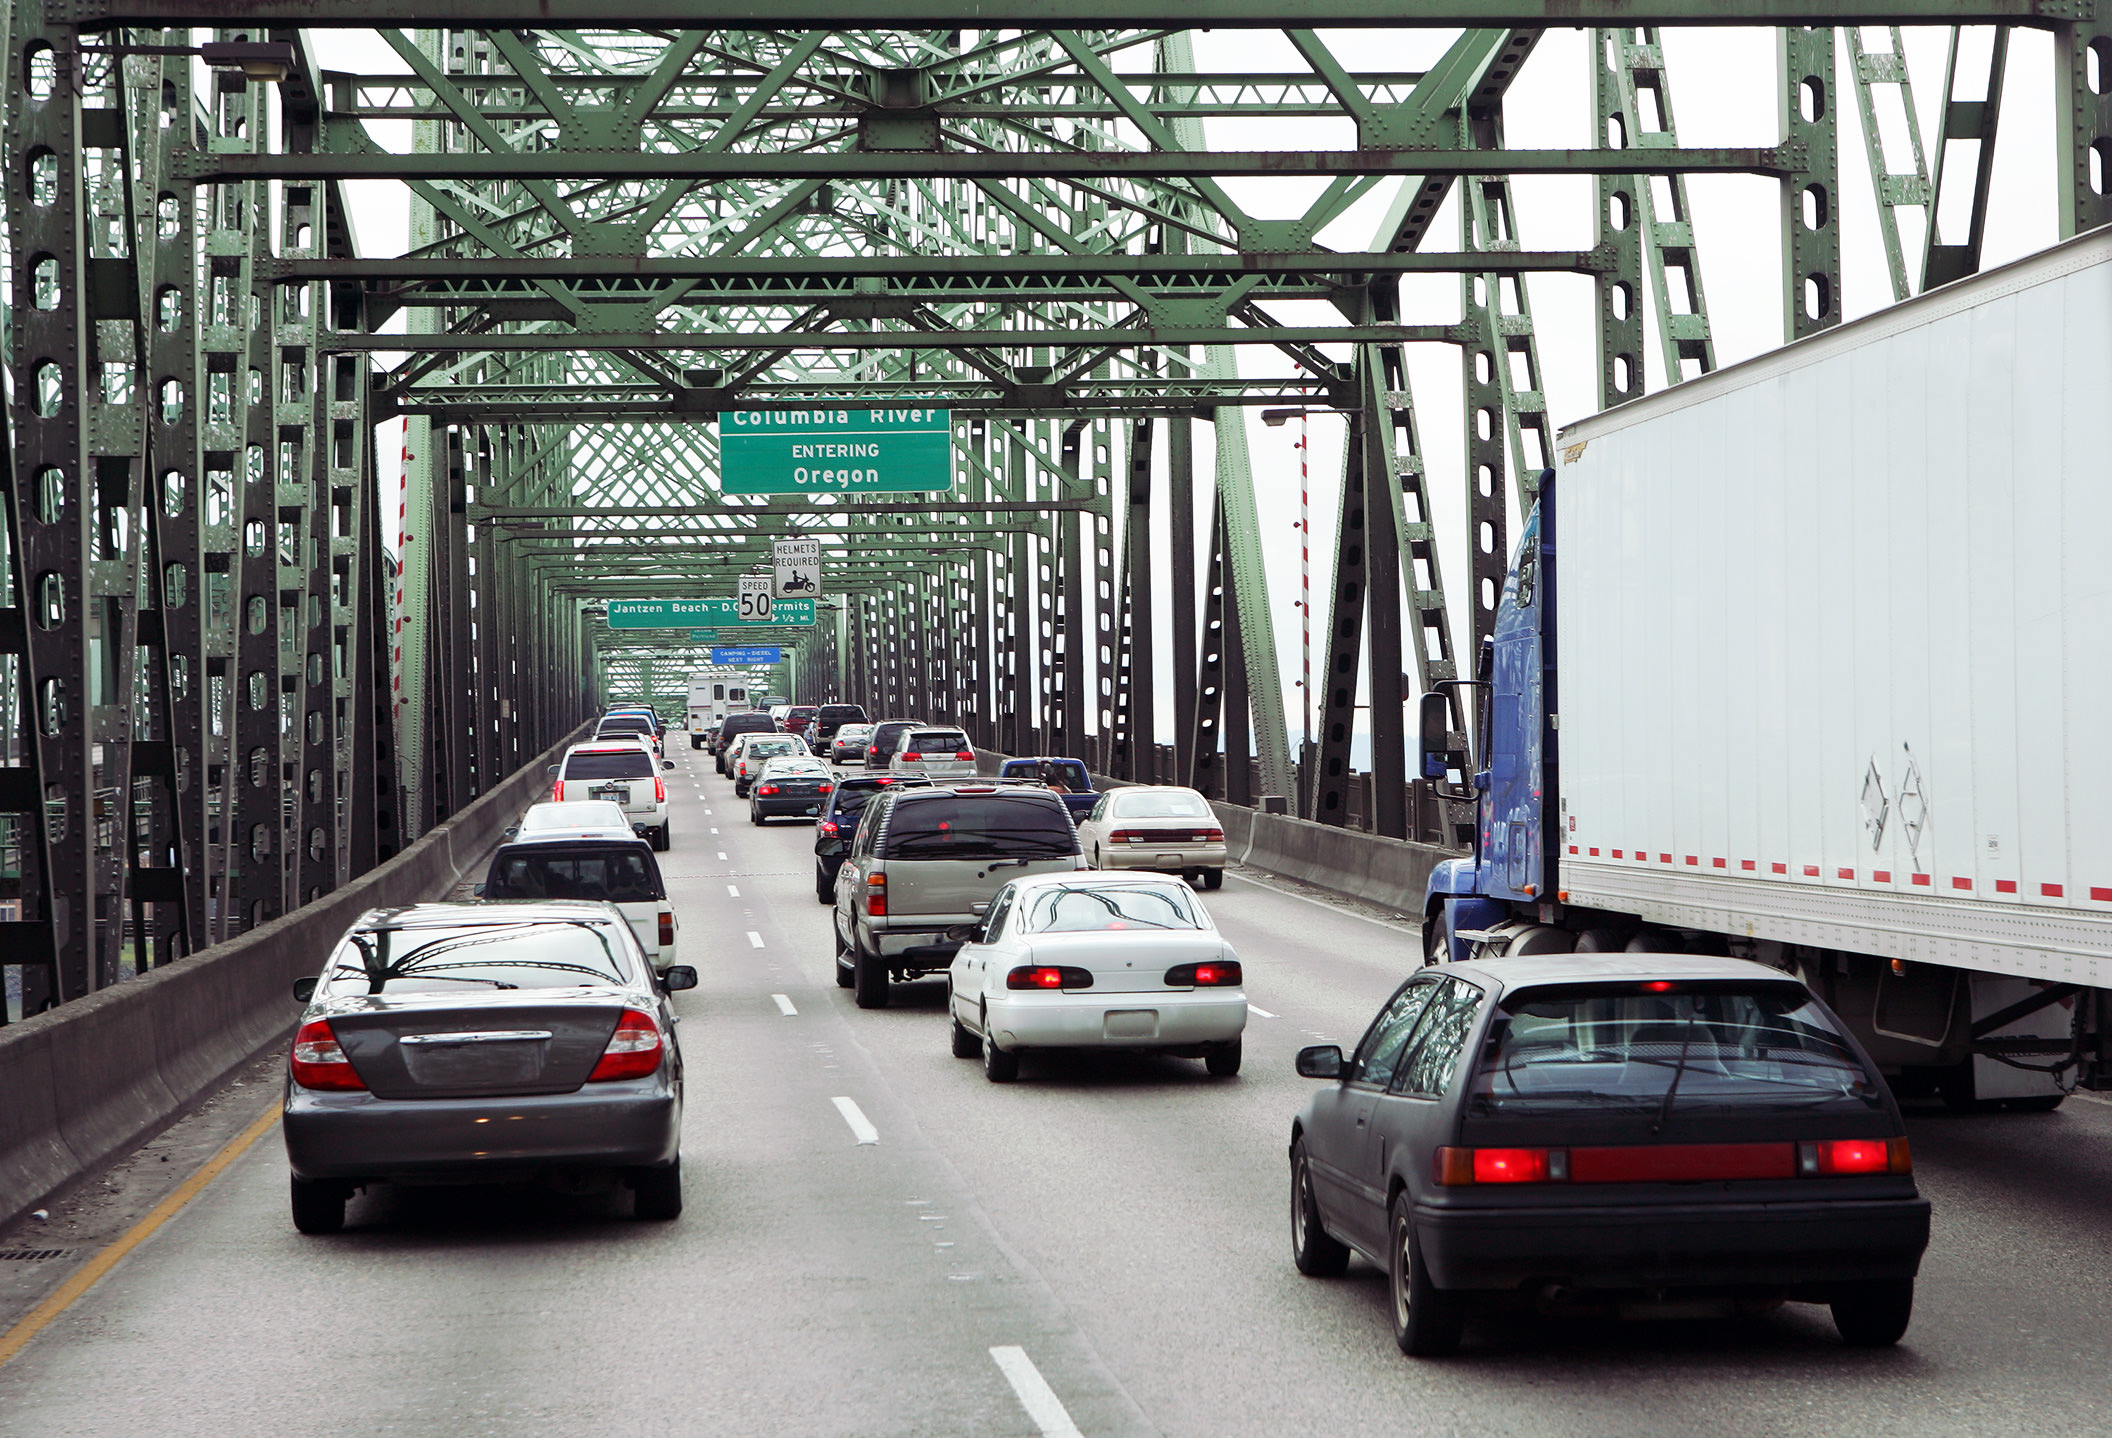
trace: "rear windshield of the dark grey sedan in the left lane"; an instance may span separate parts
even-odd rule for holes
[[[334,995],[625,984],[621,931],[606,923],[477,923],[359,929],[329,963]]]

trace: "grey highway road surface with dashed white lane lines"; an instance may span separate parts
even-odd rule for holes
[[[0,1366],[0,1434],[2104,1432],[2099,1098],[1913,1115],[1937,1221],[1897,1349],[1791,1305],[1508,1311],[1407,1360],[1375,1269],[1290,1267],[1284,1144],[1293,1054],[1354,1043],[1413,927],[1233,876],[1206,904],[1257,1005],[1240,1077],[1029,1058],[991,1085],[948,1054],[940,982],[883,1011],[834,986],[809,828],[752,828],[682,735],[670,754],[663,868],[703,980],[676,999],[684,1216],[380,1189],[302,1237],[268,1132]]]

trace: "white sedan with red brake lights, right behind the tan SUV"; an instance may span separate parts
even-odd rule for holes
[[[955,1058],[993,1083],[1026,1049],[1153,1049],[1240,1073],[1240,957],[1178,878],[1073,872],[1014,878],[946,973]]]

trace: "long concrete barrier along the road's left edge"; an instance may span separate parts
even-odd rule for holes
[[[300,1018],[291,986],[370,908],[446,893],[574,733],[403,853],[262,929],[0,1028],[0,1227],[150,1138]]]

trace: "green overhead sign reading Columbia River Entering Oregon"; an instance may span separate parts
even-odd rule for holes
[[[927,494],[953,488],[950,410],[729,410],[724,494]]]

